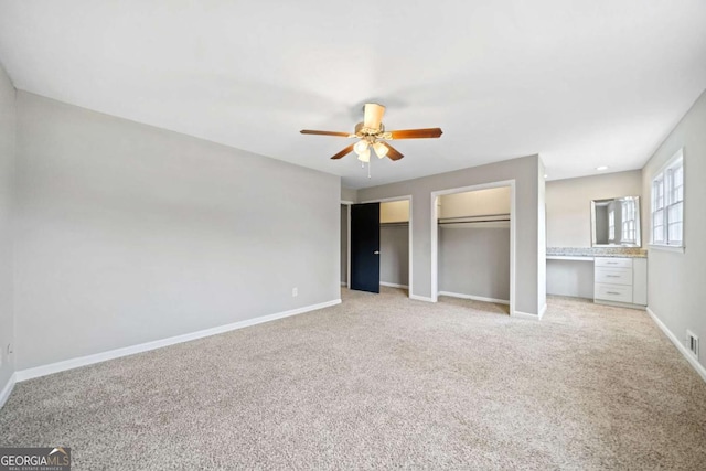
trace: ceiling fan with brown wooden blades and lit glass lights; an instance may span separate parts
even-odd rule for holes
[[[378,158],[388,157],[391,160],[399,160],[404,156],[392,147],[386,140],[393,139],[426,139],[438,138],[441,136],[441,128],[426,128],[426,129],[404,129],[397,131],[386,131],[383,125],[383,115],[385,114],[385,107],[376,103],[366,103],[363,107],[363,122],[355,125],[355,132],[335,132],[335,131],[313,131],[310,129],[302,129],[302,135],[318,135],[318,136],[340,136],[351,139],[360,139],[357,142],[343,149],[341,152],[333,156],[331,159],[341,159],[351,152],[357,154],[357,160],[365,163],[371,161],[371,148],[375,151]],[[370,167],[368,167],[370,171]],[[368,174],[370,176],[370,174]]]

